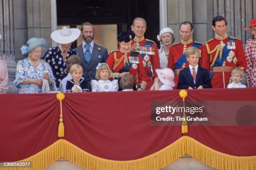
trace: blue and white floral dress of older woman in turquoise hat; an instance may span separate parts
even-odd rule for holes
[[[17,63],[16,79],[13,81],[18,88],[18,93],[42,93],[42,86],[36,84],[21,84],[25,79],[43,79],[44,71],[49,71],[50,79],[54,80],[51,67],[48,63],[40,60],[36,69],[29,62],[28,57]]]

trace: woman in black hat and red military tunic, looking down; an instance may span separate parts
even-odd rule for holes
[[[122,31],[117,37],[120,50],[112,51],[106,63],[113,71],[112,76],[114,78],[120,79],[128,73],[133,77],[133,89],[145,90],[146,74],[142,65],[141,54],[131,51],[134,37],[135,34],[132,31]]]

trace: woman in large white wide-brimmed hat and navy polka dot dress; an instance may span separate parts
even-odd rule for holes
[[[59,46],[50,48],[43,56],[53,71],[57,89],[59,90],[59,83],[67,76],[67,58],[77,52],[71,49],[73,41],[77,40],[80,35],[80,30],[77,28],[63,27],[61,30],[55,30],[51,33],[51,39]]]

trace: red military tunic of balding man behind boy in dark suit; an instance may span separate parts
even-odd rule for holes
[[[183,56],[183,60],[182,60],[181,56],[185,53],[186,49],[190,46],[195,46],[200,50],[199,65],[205,69],[208,69],[208,71],[210,72],[210,63],[209,63],[209,60],[207,60],[208,58],[207,52],[203,51],[204,45],[202,43],[193,41],[192,38],[190,38],[188,41],[182,40],[181,42],[172,45],[169,49],[167,67],[172,69],[175,74],[174,89],[177,88],[177,84],[179,81],[179,71],[181,69],[186,69],[189,66],[189,62],[187,61],[187,58]]]

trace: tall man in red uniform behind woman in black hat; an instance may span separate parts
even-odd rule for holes
[[[156,43],[144,38],[146,27],[146,20],[143,18],[135,18],[133,20],[133,25],[131,25],[131,29],[136,36],[132,44],[132,50],[141,54],[143,59],[142,64],[146,73],[146,90],[149,90],[153,84],[152,78],[157,77],[156,69],[160,69],[160,60]],[[151,67],[153,69],[153,74]]]

